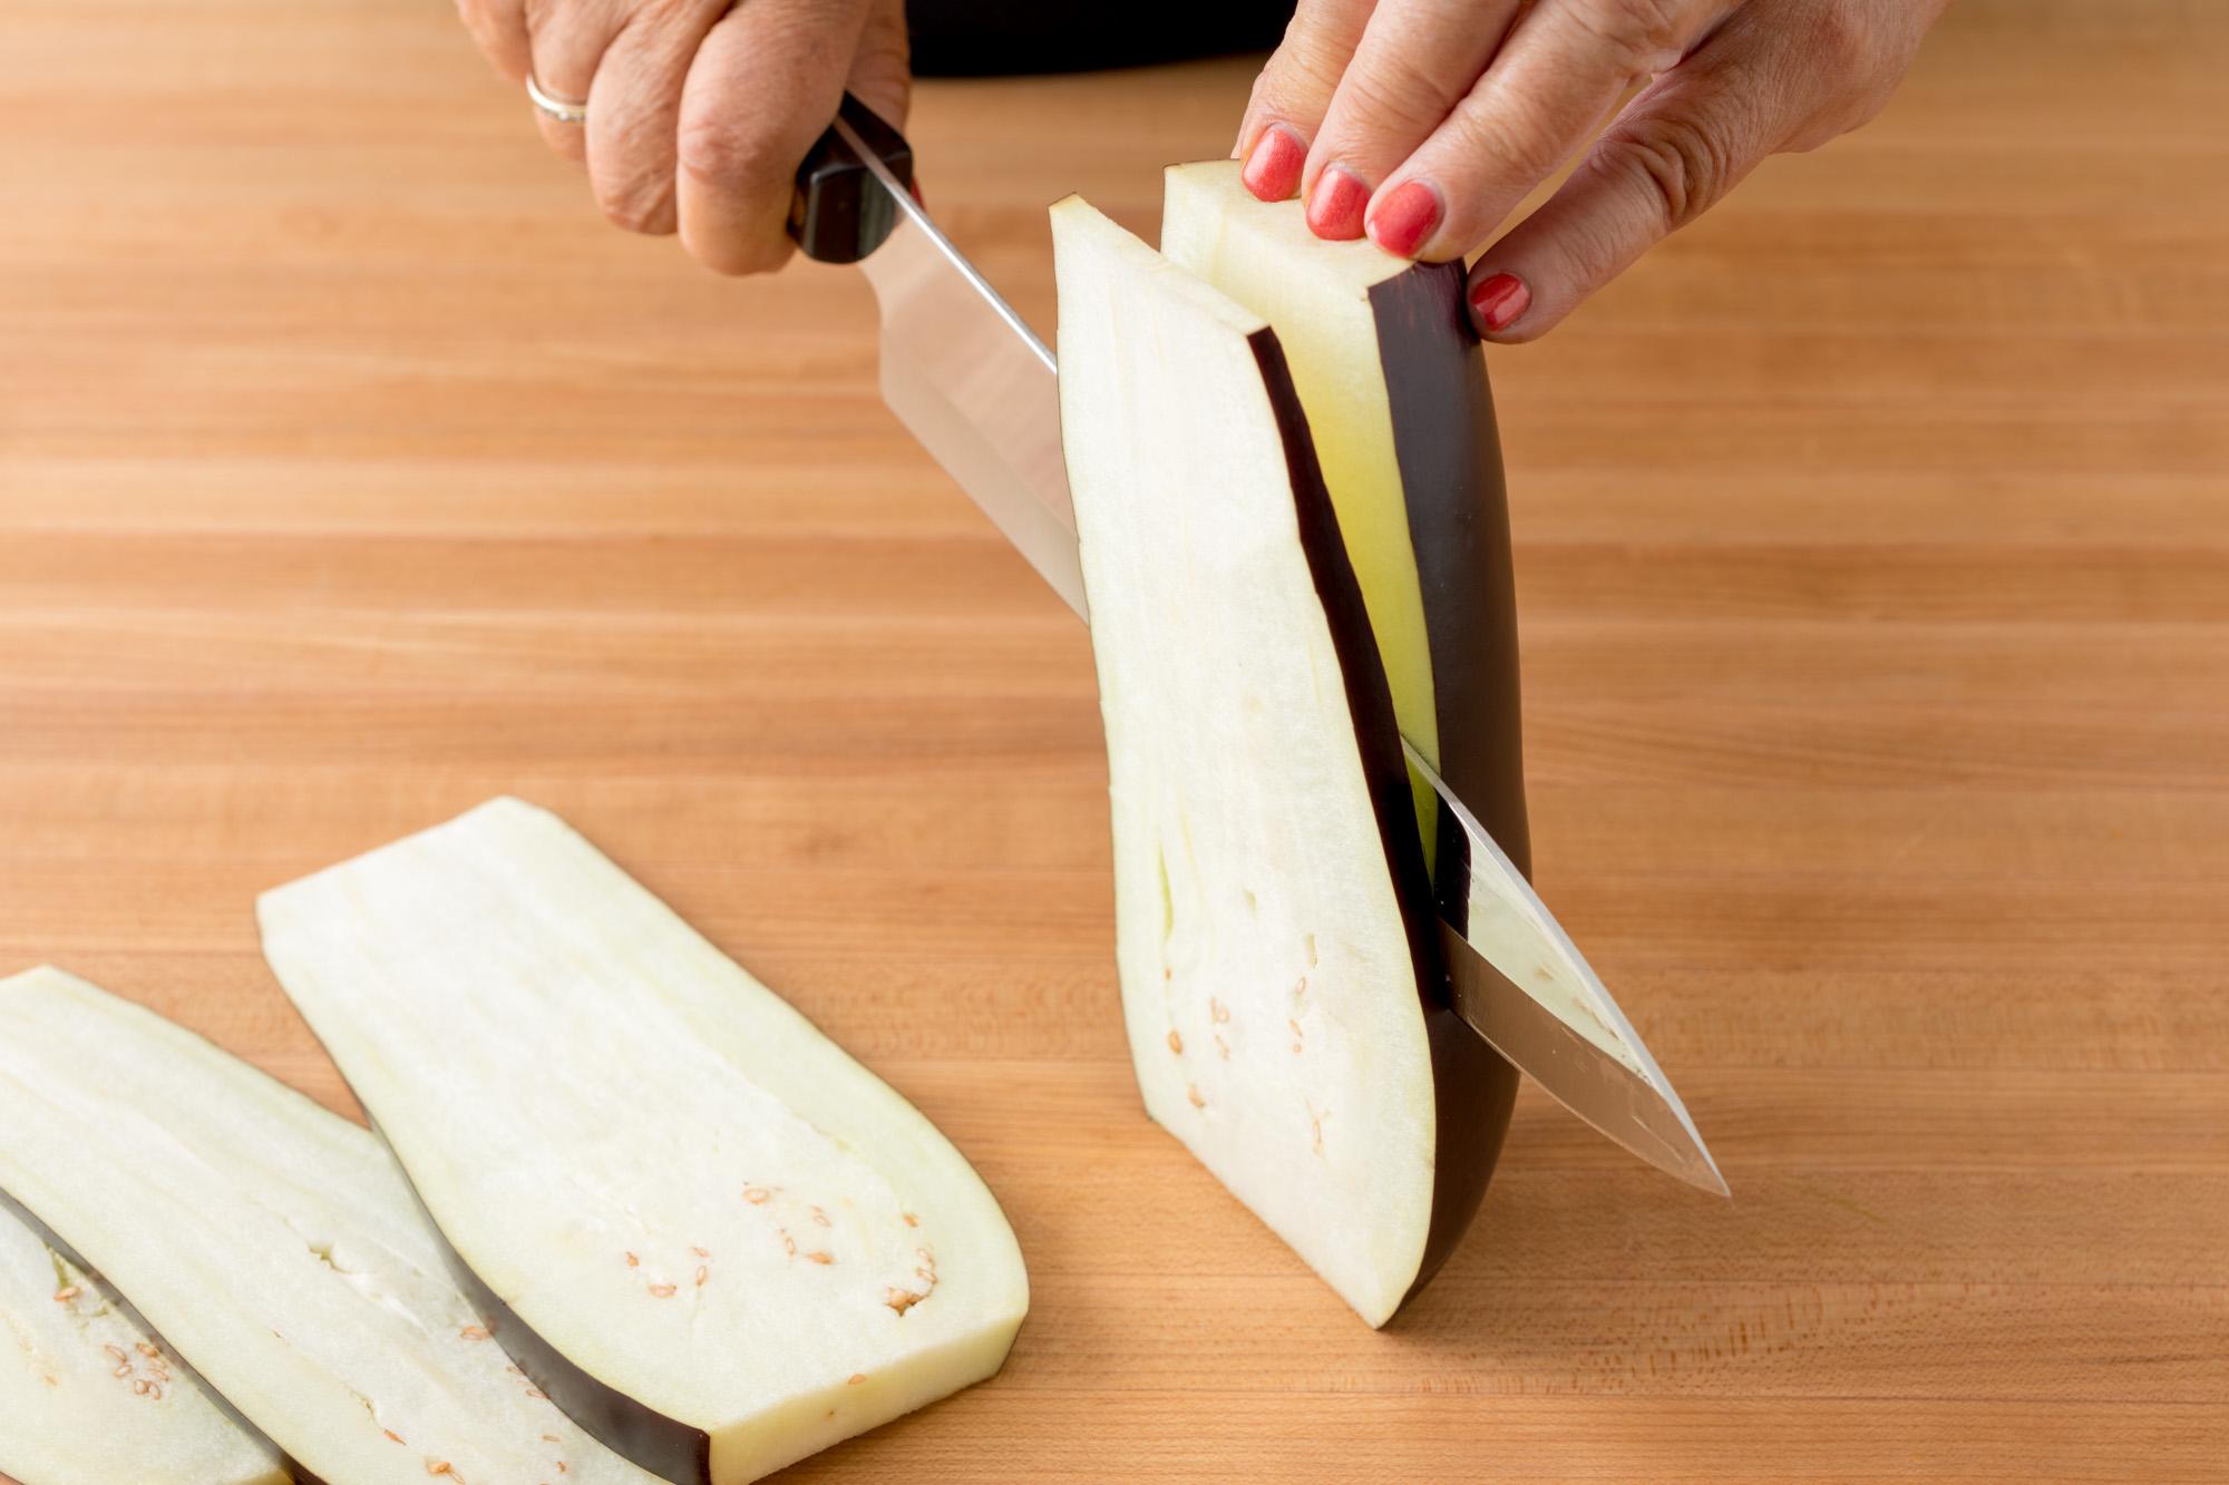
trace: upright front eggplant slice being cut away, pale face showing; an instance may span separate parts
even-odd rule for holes
[[[1146,1110],[1382,1324],[1507,1117],[1447,1008],[1384,667],[1275,334],[1081,201],[1052,236]]]

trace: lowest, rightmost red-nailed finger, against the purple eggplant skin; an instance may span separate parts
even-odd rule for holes
[[[1634,98],[1563,190],[1471,270],[1478,332],[1547,332],[1805,129],[1841,87],[1814,82],[1801,45],[1736,20]]]

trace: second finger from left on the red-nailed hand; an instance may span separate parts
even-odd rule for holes
[[[1371,13],[1302,174],[1317,236],[1362,236],[1371,190],[1471,91],[1516,9],[1518,0],[1386,0]]]

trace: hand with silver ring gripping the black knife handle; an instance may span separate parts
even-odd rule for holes
[[[849,89],[892,125],[909,87],[905,0],[457,0],[497,71],[586,100],[535,114],[629,232],[680,232],[707,268],[756,274],[791,252],[798,165]]]

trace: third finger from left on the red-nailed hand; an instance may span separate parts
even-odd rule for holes
[[[1411,140],[1413,154],[1395,156],[1398,169],[1378,176],[1371,236],[1398,256],[1462,256],[1587,143],[1625,89],[1674,67],[1730,4],[1534,7],[1447,118]]]

